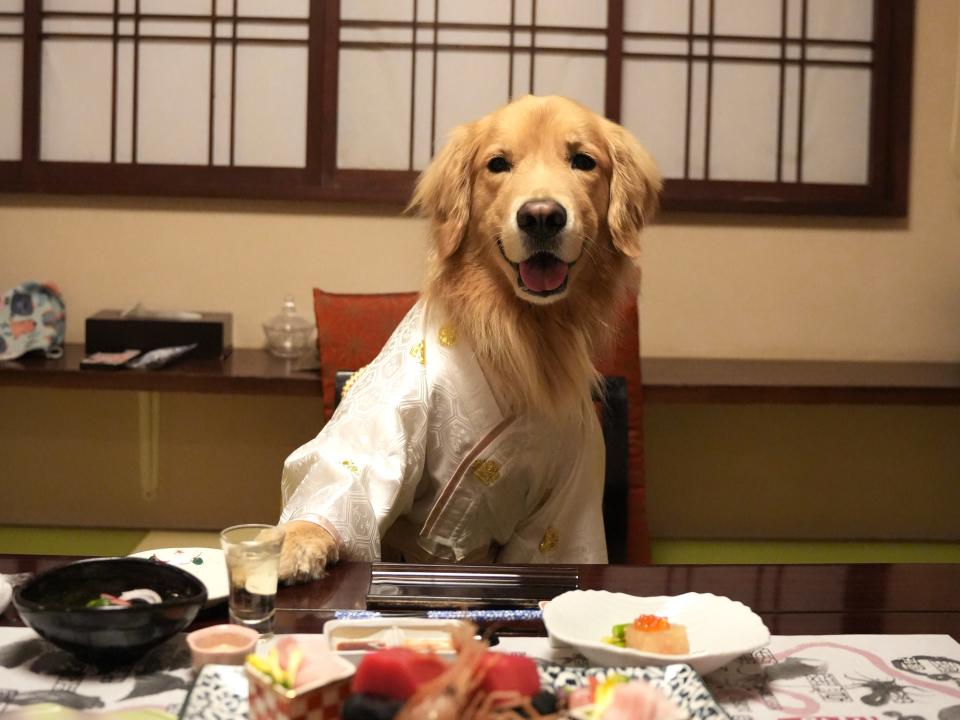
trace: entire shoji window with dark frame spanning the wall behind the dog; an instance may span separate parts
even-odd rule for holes
[[[0,190],[402,202],[526,93],[666,209],[906,213],[914,0],[0,0]]]

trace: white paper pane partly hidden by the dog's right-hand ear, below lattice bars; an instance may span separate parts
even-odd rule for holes
[[[626,60],[621,118],[653,155],[665,177],[683,177],[686,62]]]

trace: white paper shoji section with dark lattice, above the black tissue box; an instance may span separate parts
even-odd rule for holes
[[[40,159],[303,167],[308,16],[307,0],[45,0]]]

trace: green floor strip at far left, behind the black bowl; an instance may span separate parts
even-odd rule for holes
[[[0,553],[127,555],[146,534],[146,530],[0,526]]]

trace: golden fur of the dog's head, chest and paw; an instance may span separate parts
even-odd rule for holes
[[[596,166],[573,167],[578,153]],[[495,157],[509,171],[492,172]],[[636,292],[639,234],[660,187],[629,133],[561,97],[528,96],[458,127],[421,175],[410,207],[431,221],[424,296],[469,338],[513,412],[545,421],[592,412],[592,358]],[[517,269],[533,252],[517,210],[543,198],[568,217],[551,246],[569,266],[566,285],[548,296],[525,292]],[[320,577],[337,559],[333,538],[310,522],[286,527],[281,577]]]

